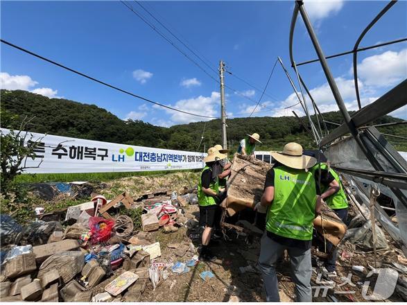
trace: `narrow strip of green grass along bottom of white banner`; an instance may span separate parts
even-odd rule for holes
[[[17,183],[39,183],[39,182],[72,182],[72,181],[109,181],[123,177],[134,176],[157,176],[169,173],[198,172],[200,169],[180,171],[141,171],[123,173],[58,173],[58,174],[22,174],[15,178]]]

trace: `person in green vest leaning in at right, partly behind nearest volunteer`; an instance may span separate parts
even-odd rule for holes
[[[315,153],[306,152],[307,155],[315,157]],[[311,172],[315,175],[315,181],[317,182],[317,189],[321,191],[322,199],[327,202],[328,207],[332,209],[338,215],[343,223],[346,223],[347,219],[347,209],[348,202],[343,189],[342,182],[340,182],[340,177],[336,171],[329,168],[327,159],[324,155],[320,154],[320,161],[311,168]],[[318,187],[318,183],[320,186]],[[334,191],[332,191],[334,190]],[[327,241],[327,252],[331,252],[334,245]],[[323,251],[323,250],[322,250]],[[322,268],[322,274],[327,277],[336,277],[336,257],[338,255],[338,250],[334,249],[331,256],[325,261],[325,266]]]

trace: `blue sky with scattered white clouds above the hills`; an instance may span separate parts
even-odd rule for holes
[[[191,58],[218,79],[137,5],[128,2]],[[358,35],[384,7],[384,1],[306,3],[326,55],[353,48]],[[280,56],[289,68],[288,33],[293,1],[143,1],[157,19],[207,59],[263,88]],[[361,46],[407,36],[407,2],[399,1],[365,36]],[[168,44],[120,1],[1,1],[1,37],[13,44],[110,82],[153,101],[207,116],[220,115],[219,85]],[[301,19],[294,37],[296,62],[315,58]],[[356,110],[352,55],[329,60],[349,110]],[[358,55],[361,98],[371,103],[407,77],[407,44],[364,51]],[[322,112],[337,110],[320,64],[300,67]],[[153,106],[76,76],[31,55],[1,44],[1,87],[26,89],[50,97],[95,104],[121,119],[154,125],[202,121]],[[225,74],[225,83],[254,101],[261,92]],[[228,117],[248,116],[254,102],[226,89]],[[297,103],[293,89],[277,64],[261,106],[254,116],[292,115],[283,107]],[[270,98],[272,96],[272,98]],[[302,113],[300,105],[293,108]],[[266,111],[267,110],[267,111]],[[407,119],[407,110],[395,116]]]

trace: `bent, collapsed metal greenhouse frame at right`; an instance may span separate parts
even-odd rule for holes
[[[376,23],[377,20],[380,19],[381,16],[384,15],[392,6],[395,4],[395,0],[390,1],[386,8],[381,10],[379,12],[379,15],[377,15],[372,22],[363,30],[363,33],[359,36],[355,46],[354,50],[352,53],[357,53],[358,52],[358,44],[361,42],[363,39],[364,35],[367,33],[370,28]],[[325,57],[322,48],[320,46],[320,43],[318,41],[318,37],[315,34],[315,31],[313,30],[313,26],[311,24],[311,21],[309,20],[309,16],[306,13],[306,10],[304,8],[304,3],[303,1],[295,1],[295,8],[293,11],[293,17],[291,19],[291,28],[290,28],[290,39],[289,39],[289,52],[290,52],[290,60],[293,68],[295,71],[297,71],[297,66],[295,65],[295,60],[293,57],[293,36],[294,36],[294,30],[295,30],[295,24],[297,21],[298,14],[300,13],[302,20],[304,21],[306,30],[309,34],[309,37],[311,38],[311,42],[313,44],[313,47],[318,55],[318,60],[322,66],[322,70],[324,71],[325,77],[327,78],[329,87],[331,89],[332,94],[334,95],[336,104],[338,105],[338,108],[340,110],[340,113],[342,114],[345,123],[343,125],[340,125],[338,128],[336,128],[333,132],[328,134],[326,137],[321,139],[321,141],[318,141],[318,148],[322,148],[324,146],[328,146],[330,143],[338,139],[339,137],[342,137],[345,134],[352,134],[352,137],[356,141],[358,147],[361,149],[363,152],[363,155],[367,158],[368,162],[372,165],[374,170],[378,173],[384,173],[384,168],[382,164],[376,159],[376,156],[372,152],[372,144],[367,143],[367,136],[365,135],[365,130],[358,130],[358,128],[361,128],[363,125],[367,123],[371,123],[375,119],[378,119],[379,117],[386,115],[394,110],[399,109],[400,107],[403,107],[404,105],[407,104],[407,80],[404,80],[401,82],[399,85],[397,85],[395,88],[391,89],[389,92],[378,98],[374,103],[367,105],[366,107],[363,107],[361,110],[356,112],[356,114],[351,117],[349,115],[349,112],[347,111],[347,108],[345,106],[345,103],[343,101],[343,98],[340,94],[340,91],[336,85],[334,76],[331,73],[331,70],[329,69],[329,65],[327,63],[327,58]],[[355,58],[355,56],[354,56]],[[354,63],[355,66],[355,63]],[[357,76],[355,76],[355,80],[357,82]],[[357,92],[358,94],[358,92]],[[311,121],[311,118],[309,116],[309,113],[306,113],[307,116],[309,117],[309,120]],[[316,113],[315,113],[316,114]],[[323,121],[323,120],[322,120]],[[311,125],[312,127],[312,125]],[[373,145],[377,150],[379,148],[376,147],[377,141],[373,141]],[[382,148],[383,149],[383,148]],[[384,148],[386,150],[386,148]],[[397,154],[397,153],[396,153]],[[387,150],[386,151],[386,159],[390,159],[389,161],[392,162],[391,160],[394,161],[394,159],[397,159],[395,156],[395,153],[393,151]],[[345,171],[343,168],[337,168],[338,171]],[[349,173],[349,168],[347,169]],[[401,175],[406,175],[407,169],[404,168],[404,166],[401,166],[401,168],[397,168],[397,171],[401,173]],[[355,173],[353,173],[355,175]],[[372,180],[372,175],[369,175],[367,173],[357,173],[358,176],[361,177],[363,175],[364,178],[368,180]],[[403,176],[403,177],[404,177]],[[404,195],[402,191],[400,191],[400,187],[404,188],[403,182],[401,184],[399,183],[393,183],[392,180],[387,181],[388,178],[382,177],[381,181],[379,181],[382,184],[390,186],[390,189],[392,192],[397,196],[397,198],[400,200],[404,206],[407,207],[407,198]]]

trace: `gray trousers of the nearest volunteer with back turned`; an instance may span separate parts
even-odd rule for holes
[[[311,291],[311,249],[302,250],[296,247],[281,245],[266,233],[261,238],[261,250],[259,266],[266,288],[267,302],[280,302],[277,274],[275,272],[276,262],[288,251],[291,261],[291,279],[295,283],[296,302],[312,302]]]

